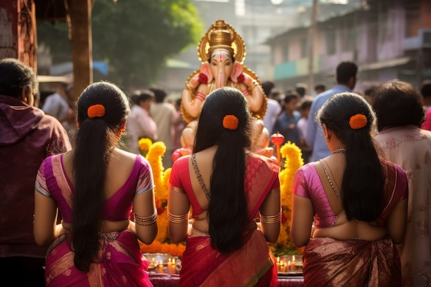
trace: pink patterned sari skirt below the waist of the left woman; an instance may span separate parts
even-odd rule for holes
[[[91,264],[90,271],[85,273],[74,265],[70,235],[57,237],[46,257],[46,286],[153,286],[145,271],[149,262],[143,258],[131,231],[104,233],[100,243],[103,250],[98,263]]]

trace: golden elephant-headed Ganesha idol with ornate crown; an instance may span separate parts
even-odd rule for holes
[[[198,118],[205,98],[219,87],[235,87],[244,94],[253,117],[253,151],[273,156],[269,147],[269,131],[262,118],[266,112],[266,95],[253,71],[244,65],[245,45],[241,36],[222,19],[215,21],[198,45],[200,69],[193,72],[185,83],[181,98],[182,118],[187,127],[182,131],[181,146],[172,159],[193,151]]]

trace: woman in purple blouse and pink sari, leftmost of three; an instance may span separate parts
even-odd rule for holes
[[[46,286],[151,286],[137,240],[151,244],[157,234],[151,166],[116,148],[129,101],[116,85],[93,83],[77,110],[74,149],[46,159],[36,178],[34,239],[50,244]]]

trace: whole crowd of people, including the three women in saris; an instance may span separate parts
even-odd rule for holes
[[[264,127],[304,158],[290,226],[304,248],[304,286],[428,286],[431,80],[359,94],[357,72],[339,63],[336,84],[313,95],[262,83]],[[138,147],[149,138],[165,142],[171,167],[169,235],[186,244],[180,286],[277,286],[267,242],[280,233],[280,162],[253,150],[244,91],[200,96],[192,152],[174,161],[180,99],[101,81],[72,103],[69,88],[37,103],[32,69],[0,60],[2,272],[17,274],[17,286],[152,286],[138,245],[158,233],[153,174]]]

